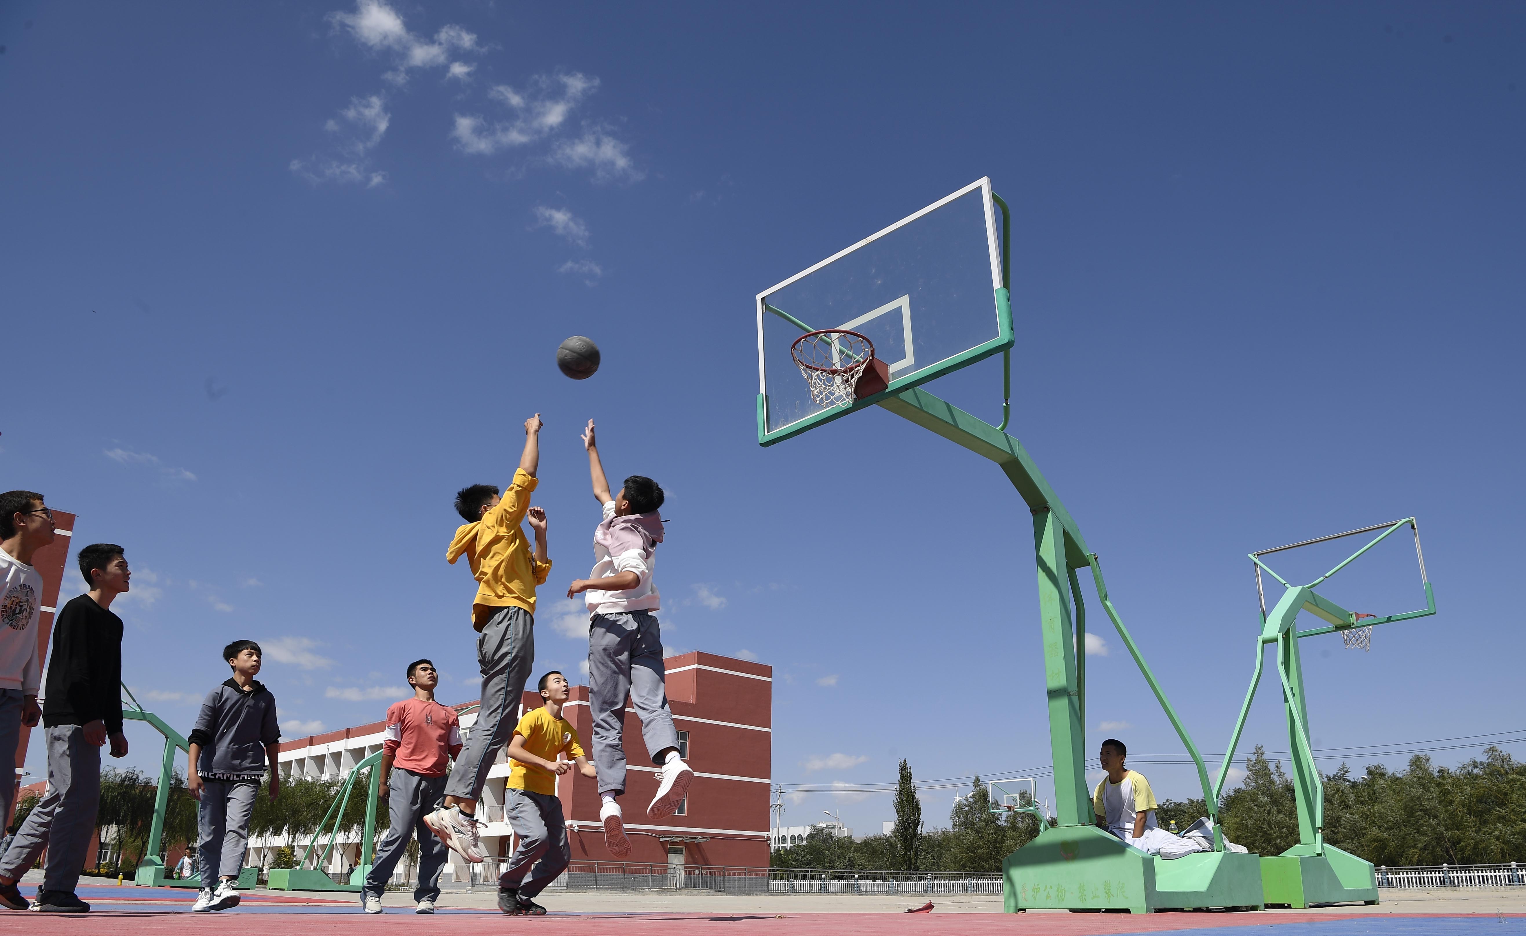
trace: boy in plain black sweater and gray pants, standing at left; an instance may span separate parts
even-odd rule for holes
[[[0,899],[12,910],[26,901],[17,881],[47,849],[37,907],[44,913],[89,913],[75,895],[85,866],[101,802],[101,747],[127,756],[122,735],[122,619],[110,611],[128,590],[131,573],[122,547],[95,543],[79,550],[79,572],[90,591],[58,614],[53,659],[47,666],[43,726],[47,729],[47,793],[0,858]],[[9,777],[6,777],[9,779]]]

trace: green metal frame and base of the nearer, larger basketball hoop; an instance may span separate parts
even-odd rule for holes
[[[1044,678],[1048,695],[1050,752],[1054,764],[1054,809],[1058,826],[1041,825],[1038,838],[1013,852],[1003,864],[1006,909],[1129,909],[1151,912],[1177,907],[1260,907],[1262,886],[1257,855],[1227,852],[1218,834],[1218,800],[1212,796],[1207,767],[1196,744],[1166,698],[1138,645],[1108,596],[1097,553],[1087,547],[1080,527],[1054,494],[1022,444],[1004,431],[1010,415],[1010,390],[1003,427],[920,389],[954,367],[978,361],[1012,346],[1010,213],[1006,201],[992,197],[1003,215],[1003,288],[996,290],[1001,309],[1001,338],[977,348],[935,373],[893,383],[884,393],[852,407],[829,410],[803,419],[772,434],[766,431],[766,401],[758,396],[758,444],[772,445],[807,428],[842,418],[865,405],[879,405],[903,419],[961,445],[1001,468],[1033,517],[1033,547],[1038,559],[1041,631],[1044,637]],[[803,322],[792,320],[806,328]],[[1009,366],[1010,367],[1010,366]],[[1010,375],[1010,369],[1009,369]],[[1007,381],[1010,387],[1010,377]],[[1085,762],[1085,607],[1077,572],[1091,572],[1102,607],[1114,630],[1134,657],[1140,674],[1164,709],[1198,768],[1204,803],[1215,819],[1215,851],[1186,855],[1172,861],[1152,858],[1096,826],[1091,794],[1087,790]],[[1082,652],[1077,652],[1082,648]],[[1077,861],[1077,858],[1085,858]]]

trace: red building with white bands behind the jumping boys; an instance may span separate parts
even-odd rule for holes
[[[772,668],[707,652],[668,657],[667,695],[679,730],[684,756],[694,768],[682,814],[661,822],[647,817],[645,808],[656,794],[656,767],[641,741],[641,721],[626,707],[626,794],[621,805],[633,854],[629,861],[652,864],[725,864],[768,867],[769,857],[769,764],[771,715],[774,704]],[[539,674],[537,674],[539,677]],[[537,692],[525,692],[520,713],[542,704]],[[470,729],[476,712],[472,703],[462,710],[462,729]],[[378,704],[385,712],[386,706]],[[563,716],[577,729],[591,750],[594,726],[588,706],[588,686],[574,686]],[[281,745],[282,776],[337,777],[368,755],[382,748],[385,723],[313,735]],[[592,752],[591,752],[592,753]],[[510,773],[507,753],[488,773],[479,816],[487,823],[484,846],[493,855],[513,852],[513,834],[504,822],[504,787]],[[557,794],[568,819],[568,838],[574,861],[613,861],[604,848],[598,822],[598,782],[577,771],[557,781]],[[250,864],[269,866],[267,852],[284,840],[258,840],[250,846]],[[339,849],[336,849],[337,852]],[[359,840],[336,854],[331,870],[359,861]],[[461,858],[452,855],[461,863]],[[452,866],[456,877],[465,867]]]

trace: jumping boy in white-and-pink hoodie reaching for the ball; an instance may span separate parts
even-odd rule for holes
[[[615,858],[630,857],[630,838],[617,796],[626,791],[626,694],[641,716],[641,738],[652,762],[662,767],[658,794],[647,814],[671,816],[688,796],[694,771],[678,756],[678,730],[668,710],[662,668],[662,633],[652,616],[659,607],[652,582],[656,546],[662,541],[662,488],[633,474],[610,497],[604,465],[598,460],[594,421],[583,433],[594,497],[604,517],[594,529],[592,578],[577,579],[568,598],[588,591],[592,611],[588,631],[589,706],[594,715],[594,765],[598,768],[598,819],[604,845]]]

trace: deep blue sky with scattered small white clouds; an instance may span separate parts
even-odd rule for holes
[[[552,584],[591,564],[595,418],[668,491],[665,642],[775,668],[775,781],[1044,770],[1000,471],[881,410],[755,444],[754,294],[990,175],[1012,431],[1201,748],[1250,675],[1245,553],[1412,514],[1441,614],[1306,642],[1315,744],[1526,729],[1520,8],[353,2],[0,8],[0,483],[127,546],[127,681],[177,724],[244,636],[290,733],[380,718],[418,656],[473,697],[450,497],[540,412]],[[929,389],[996,419],[1000,381]],[[858,506],[830,538],[824,491]],[[1352,587],[1408,610],[1412,563]],[[537,669],[575,671],[542,599]],[[1192,794],[1100,636],[1088,747]],[[1286,748],[1270,688],[1245,741]],[[786,822],[823,809],[891,819]]]

